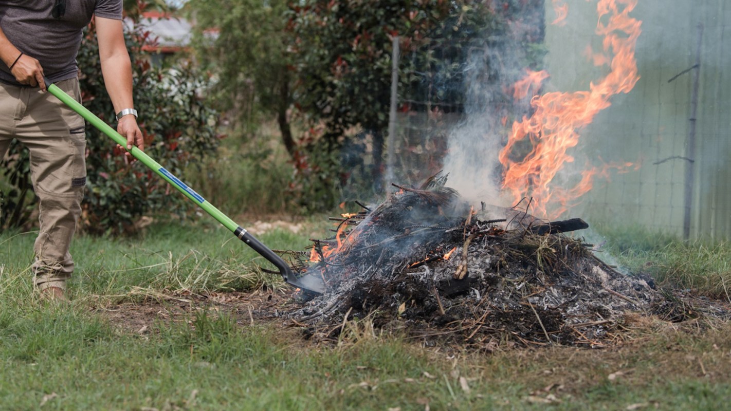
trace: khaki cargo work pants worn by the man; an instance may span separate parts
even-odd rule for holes
[[[56,85],[80,101],[77,79]],[[13,138],[30,151],[31,180],[39,198],[34,283],[39,290],[65,289],[74,271],[69,245],[86,185],[84,120],[40,88],[0,83],[0,159]]]

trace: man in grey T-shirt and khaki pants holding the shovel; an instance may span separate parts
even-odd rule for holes
[[[44,76],[80,101],[76,55],[92,18],[117,131],[126,137],[128,150],[133,145],[143,149],[122,0],[0,2],[0,159],[13,138],[30,150],[31,180],[40,199],[32,271],[43,299],[66,299],[66,281],[74,270],[69,245],[86,185],[84,120],[46,92]]]

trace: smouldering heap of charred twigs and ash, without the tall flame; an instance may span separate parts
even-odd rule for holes
[[[580,219],[542,223],[525,212],[478,212],[446,177],[398,187],[374,210],[343,215],[336,237],[316,240],[308,274],[327,292],[291,313],[336,335],[344,316],[466,345],[500,342],[598,346],[627,312],[670,312],[653,284],[596,258],[561,232]]]

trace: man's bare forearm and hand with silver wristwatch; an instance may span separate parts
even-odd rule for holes
[[[99,42],[99,60],[102,62],[102,76],[114,106],[114,112],[135,108],[132,101],[132,63],[124,44],[122,20],[111,18],[94,18],[96,21],[96,39]],[[137,118],[124,115],[118,120],[117,131],[127,138],[127,150],[135,145],[143,150],[143,137]],[[132,155],[126,153],[132,160]]]

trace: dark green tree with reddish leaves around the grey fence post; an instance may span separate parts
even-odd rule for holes
[[[419,88],[417,65],[438,66],[442,76],[460,83],[464,57],[454,40],[480,37],[491,28],[492,16],[486,2],[470,0],[304,1],[292,7],[289,23],[295,37],[295,104],[312,123],[325,123],[324,150],[339,150],[354,126],[373,136],[373,183],[379,193],[393,37],[399,37],[407,56],[399,67],[400,93]],[[458,105],[462,96],[463,89],[453,87],[450,95],[424,99]]]

